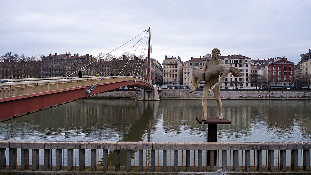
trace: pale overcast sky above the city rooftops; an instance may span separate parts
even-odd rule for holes
[[[284,56],[296,64],[311,49],[311,1],[0,0],[0,55],[109,53],[149,26],[160,63],[219,48],[223,56]]]

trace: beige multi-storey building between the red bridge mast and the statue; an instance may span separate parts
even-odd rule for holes
[[[183,62],[180,57],[167,57],[163,60],[163,85],[171,88],[172,85],[183,84]]]

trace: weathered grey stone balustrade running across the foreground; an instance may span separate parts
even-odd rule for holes
[[[0,170],[308,173],[310,149],[311,142],[0,141]]]

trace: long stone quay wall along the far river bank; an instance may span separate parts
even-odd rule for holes
[[[162,89],[160,99],[201,99],[202,89],[188,93],[189,89]],[[93,99],[138,99],[140,89],[114,89],[88,98]],[[308,94],[307,94],[308,93]],[[302,89],[221,89],[221,98],[310,98],[311,90]],[[214,98],[210,92],[209,98]]]

